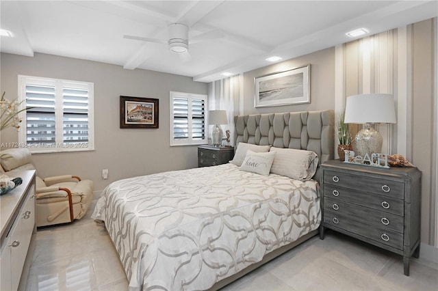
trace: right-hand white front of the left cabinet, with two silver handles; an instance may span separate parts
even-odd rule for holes
[[[27,249],[35,225],[35,197],[34,186],[29,189],[25,205],[16,217],[16,226],[13,227],[10,237],[12,290],[18,289],[21,273],[25,264]]]

